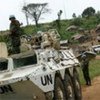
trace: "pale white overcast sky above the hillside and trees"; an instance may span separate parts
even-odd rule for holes
[[[0,30],[9,29],[9,15],[15,15],[16,19],[26,25],[25,15],[22,12],[24,3],[48,3],[51,9],[50,14],[46,14],[41,22],[53,21],[57,19],[57,12],[63,10],[62,19],[69,19],[73,13],[81,15],[87,7],[93,7],[100,11],[100,0],[0,0]],[[29,23],[34,23],[30,20]]]

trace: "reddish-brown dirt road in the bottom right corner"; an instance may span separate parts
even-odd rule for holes
[[[92,86],[83,86],[82,94],[82,100],[100,100],[100,76],[94,78]]]

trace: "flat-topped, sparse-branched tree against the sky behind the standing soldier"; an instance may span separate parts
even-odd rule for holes
[[[35,21],[35,24],[38,27],[38,21],[40,20],[41,15],[50,11],[50,9],[47,8],[47,5],[48,3],[31,3],[27,6],[23,6],[22,10],[29,18]]]

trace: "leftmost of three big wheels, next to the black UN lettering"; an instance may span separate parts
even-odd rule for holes
[[[54,100],[66,100],[64,85],[59,77],[55,79]]]

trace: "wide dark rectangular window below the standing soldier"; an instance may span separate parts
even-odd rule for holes
[[[32,55],[32,56],[24,57],[24,58],[17,58],[13,60],[14,60],[14,68],[37,64],[36,55]]]

